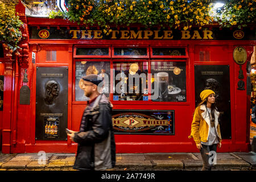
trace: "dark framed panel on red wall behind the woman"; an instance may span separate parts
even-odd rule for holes
[[[196,106],[200,93],[211,89],[216,94],[216,107],[220,112],[222,139],[231,138],[229,65],[195,65]]]

